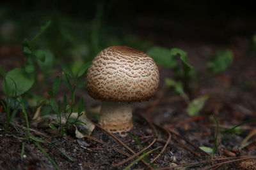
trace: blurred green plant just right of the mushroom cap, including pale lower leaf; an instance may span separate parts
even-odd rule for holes
[[[177,75],[178,80],[173,78],[166,78],[165,84],[167,87],[172,87],[177,94],[186,101],[188,104],[188,114],[195,116],[204,107],[205,101],[209,98],[208,96],[199,96],[193,100],[189,99],[184,89],[189,89],[189,81],[195,81],[195,69],[188,62],[188,53],[184,52],[179,48],[167,48],[155,46],[148,50],[150,55],[156,62],[162,66],[170,67]],[[179,56],[179,59],[176,57]],[[179,62],[181,62],[179,67]]]

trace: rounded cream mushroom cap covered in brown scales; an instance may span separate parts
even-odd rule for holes
[[[156,62],[146,53],[128,46],[110,46],[102,50],[87,72],[88,94],[100,101],[148,100],[158,84]]]

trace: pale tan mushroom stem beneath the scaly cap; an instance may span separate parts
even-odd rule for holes
[[[132,125],[132,105],[129,103],[103,102],[100,109],[99,125],[112,133],[126,136]]]

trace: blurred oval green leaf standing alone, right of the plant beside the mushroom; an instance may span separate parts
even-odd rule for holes
[[[212,73],[220,73],[225,71],[232,64],[232,61],[233,53],[231,50],[220,50],[211,60],[209,60],[207,63],[207,68]]]

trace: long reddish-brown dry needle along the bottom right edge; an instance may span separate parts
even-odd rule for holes
[[[179,166],[170,166],[170,167],[161,167],[156,170],[165,170],[165,169],[172,169],[177,167],[186,167],[186,166],[197,166],[198,164],[206,164],[209,162],[214,162],[218,160],[227,160],[227,159],[235,159],[231,160],[232,162],[236,162],[237,160],[245,160],[245,159],[256,159],[256,156],[241,156],[241,157],[226,157],[226,158],[220,158],[220,159],[209,159],[209,160],[202,160],[199,162],[189,163],[189,164],[180,164]]]

